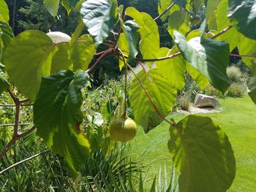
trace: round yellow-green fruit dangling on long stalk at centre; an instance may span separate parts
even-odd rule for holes
[[[136,135],[137,125],[130,118],[116,118],[110,126],[110,137],[118,142],[128,142]]]

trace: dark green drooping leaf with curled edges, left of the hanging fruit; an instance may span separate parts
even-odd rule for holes
[[[34,124],[37,135],[46,144],[64,156],[73,173],[83,166],[89,154],[90,145],[80,125],[83,115],[81,88],[87,85],[88,74],[78,70],[59,71],[42,78],[41,88],[34,102]]]

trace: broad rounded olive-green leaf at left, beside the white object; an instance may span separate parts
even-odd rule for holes
[[[4,66],[10,82],[31,101],[37,96],[42,77],[50,74],[56,50],[45,33],[30,30],[18,34],[4,52]]]

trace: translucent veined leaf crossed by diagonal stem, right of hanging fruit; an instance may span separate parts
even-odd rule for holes
[[[162,77],[158,69],[150,69],[148,72],[142,70],[138,73],[138,78],[153,99],[159,112],[164,116],[168,115],[176,101],[176,88],[165,77]],[[134,111],[135,122],[143,126],[144,131],[148,132],[161,123],[162,119],[157,115],[137,79],[132,81],[129,101]]]

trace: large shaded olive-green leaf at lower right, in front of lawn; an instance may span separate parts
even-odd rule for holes
[[[222,192],[230,188],[236,160],[227,135],[211,118],[189,115],[170,127],[168,147],[181,172],[181,192]]]

